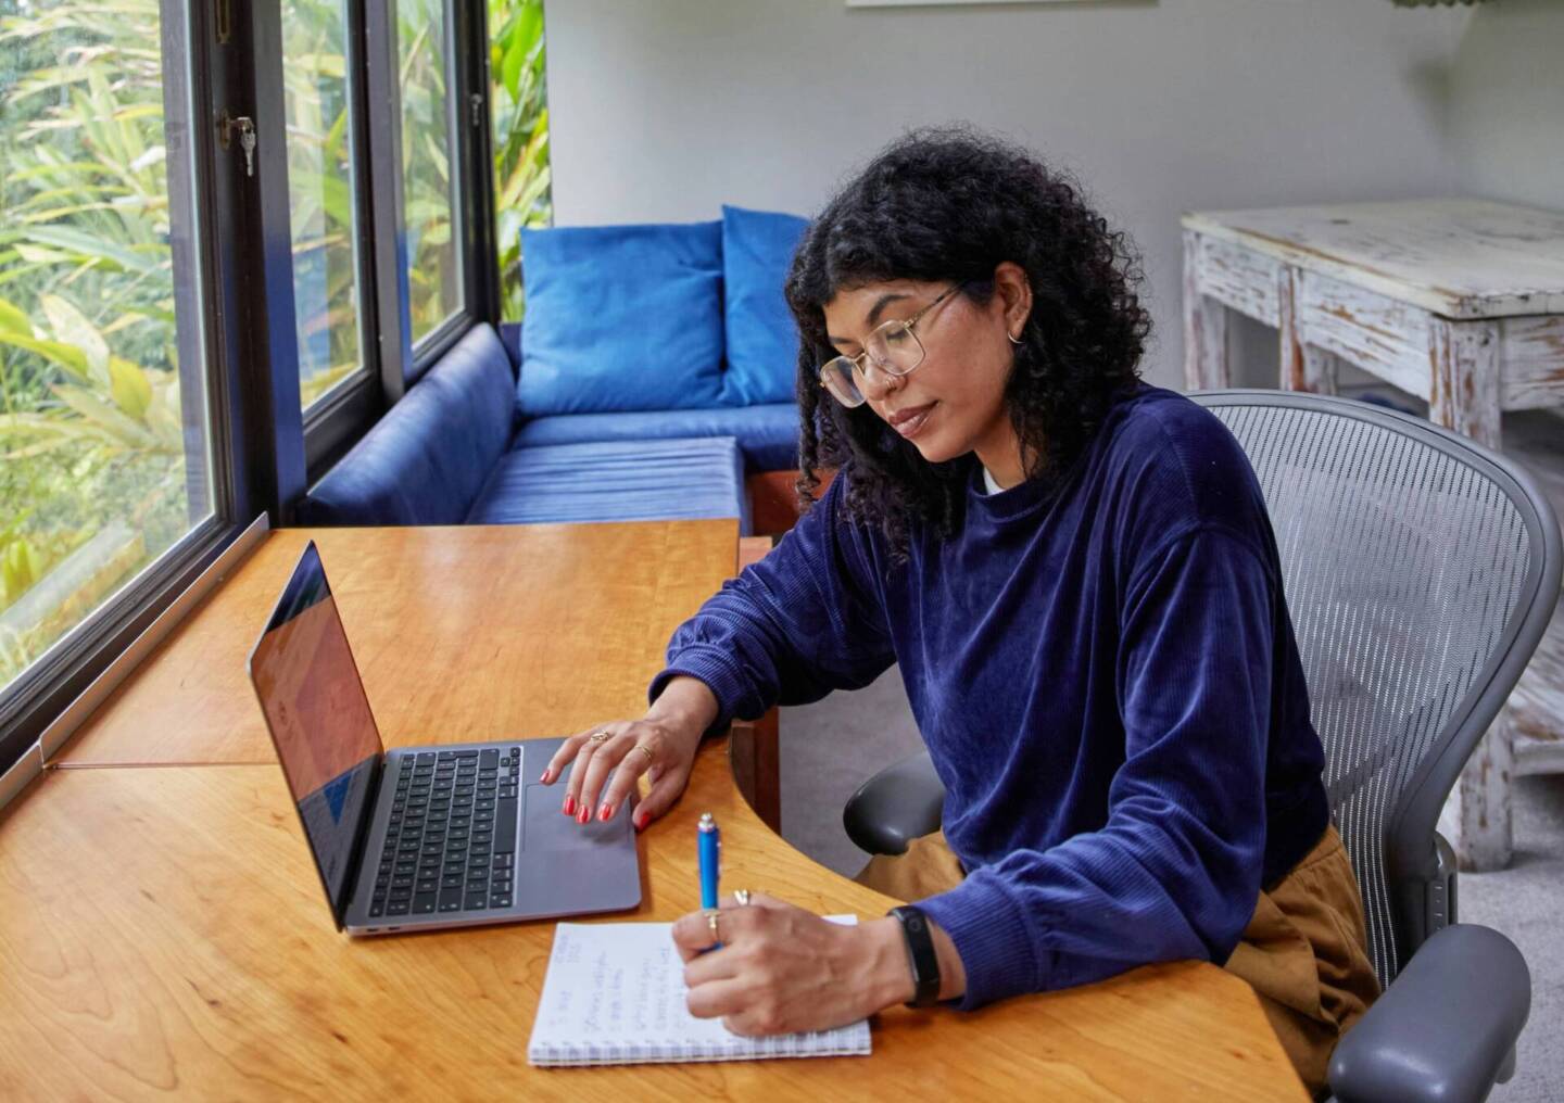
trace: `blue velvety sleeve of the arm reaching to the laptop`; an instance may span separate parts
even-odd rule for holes
[[[765,559],[723,583],[674,631],[651,700],[677,675],[699,678],[716,697],[713,726],[721,726],[776,703],[859,689],[895,662],[870,537],[838,520],[845,481],[838,475]]]

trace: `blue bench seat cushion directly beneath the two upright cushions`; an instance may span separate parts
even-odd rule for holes
[[[655,441],[663,437],[730,436],[752,472],[798,467],[798,406],[713,406],[638,414],[560,414],[526,422],[516,447],[579,441]]]

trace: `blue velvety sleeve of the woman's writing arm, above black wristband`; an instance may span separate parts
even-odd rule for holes
[[[967,970],[963,1008],[1135,966],[1223,962],[1265,850],[1275,580],[1245,536],[1184,531],[1125,594],[1125,762],[1098,831],[1015,850],[923,901]]]

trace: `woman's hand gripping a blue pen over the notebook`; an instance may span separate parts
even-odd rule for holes
[[[762,892],[724,897],[716,939],[708,912],[674,923],[690,1014],[735,1034],[830,1030],[910,1000],[912,970],[895,919],[832,923]],[[887,928],[885,925],[890,923]],[[721,947],[701,953],[721,941]]]

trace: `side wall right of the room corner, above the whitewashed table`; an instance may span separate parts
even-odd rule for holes
[[[1451,69],[1456,187],[1564,209],[1564,5],[1478,8]]]

